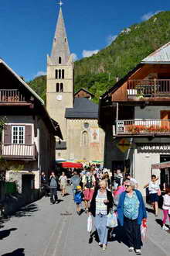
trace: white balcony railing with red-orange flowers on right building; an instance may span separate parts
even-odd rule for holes
[[[165,119],[133,119],[117,120],[117,135],[170,135],[170,120]]]

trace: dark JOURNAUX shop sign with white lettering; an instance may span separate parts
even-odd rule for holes
[[[170,152],[170,144],[137,144],[138,152]]]

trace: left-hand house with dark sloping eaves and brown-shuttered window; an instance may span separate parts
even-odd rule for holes
[[[55,169],[55,136],[59,126],[49,117],[44,102],[0,59],[2,130],[1,171],[6,182],[15,182],[26,202],[37,199],[40,174]]]

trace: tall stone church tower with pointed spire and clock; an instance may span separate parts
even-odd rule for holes
[[[47,56],[46,109],[49,116],[59,123],[63,140],[66,142],[65,111],[66,108],[73,108],[73,57],[66,36],[62,2],[59,5],[53,47],[51,55]],[[58,142],[56,138],[56,145]],[[62,155],[56,157],[67,157],[66,143],[61,144],[63,144]]]

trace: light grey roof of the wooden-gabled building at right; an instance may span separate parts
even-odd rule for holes
[[[152,54],[141,61],[144,64],[170,62],[170,42],[166,43]]]

